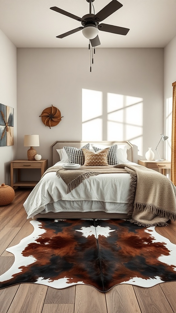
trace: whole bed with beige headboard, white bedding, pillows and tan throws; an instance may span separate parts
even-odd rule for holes
[[[83,159],[80,159],[80,156],[78,158],[77,153],[79,151],[84,155],[85,163]],[[107,153],[106,155],[105,152]],[[67,179],[64,180],[63,177],[65,175],[68,176],[69,171],[63,170],[62,165],[67,162],[80,162],[82,165],[81,170],[84,170],[84,165],[87,165],[86,162],[89,160],[89,158],[86,159],[87,153],[88,155],[93,155],[93,157],[95,154],[97,156],[102,155],[102,159],[104,154],[106,162],[108,162],[107,165],[110,165],[105,167],[110,168],[112,172],[105,170],[105,172],[96,173],[96,176],[92,174],[92,176],[86,177],[86,179],[82,180],[81,183],[68,192]],[[28,218],[129,219],[136,214],[137,218],[131,218],[133,223],[148,226],[166,226],[168,219],[175,220],[176,218],[175,186],[162,174],[132,161],[133,146],[128,141],[54,142],[51,146],[51,167],[45,172],[23,204]],[[114,164],[116,165],[114,166]],[[87,169],[89,166],[85,168]],[[93,167],[90,167],[89,172],[91,168]],[[103,171],[104,166],[99,166],[98,168],[102,168]],[[73,171],[70,172],[73,173]],[[144,185],[142,192],[141,188],[139,188],[140,185]],[[167,194],[163,190],[166,190]],[[137,202],[135,202],[137,197]],[[157,201],[155,201],[155,198]],[[150,200],[149,203],[148,199]],[[133,203],[136,206],[135,212],[133,209],[129,209],[129,206],[131,205],[132,207]],[[148,218],[147,223],[146,214]]]

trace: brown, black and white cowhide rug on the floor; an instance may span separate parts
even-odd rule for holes
[[[15,261],[0,276],[0,288],[19,283],[58,289],[87,284],[105,292],[117,284],[151,287],[176,280],[176,245],[155,227],[119,219],[30,223],[34,232],[7,249]]]

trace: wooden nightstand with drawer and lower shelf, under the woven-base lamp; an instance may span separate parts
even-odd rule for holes
[[[13,182],[13,169],[18,169],[18,181]],[[41,169],[41,177],[44,172],[48,168],[48,160],[40,160],[40,161],[28,161],[28,160],[15,160],[12,161],[10,164],[10,177],[11,177],[11,187],[34,187],[37,185],[38,182],[34,181],[20,181],[20,169],[21,168],[40,168]]]

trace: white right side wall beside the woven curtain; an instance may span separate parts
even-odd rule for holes
[[[172,83],[176,81],[176,36],[164,48],[164,130],[169,137],[166,141],[166,159],[171,160],[172,133]]]

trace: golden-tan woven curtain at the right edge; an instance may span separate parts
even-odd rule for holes
[[[173,86],[172,141],[171,141],[171,181],[176,186],[176,81]]]

